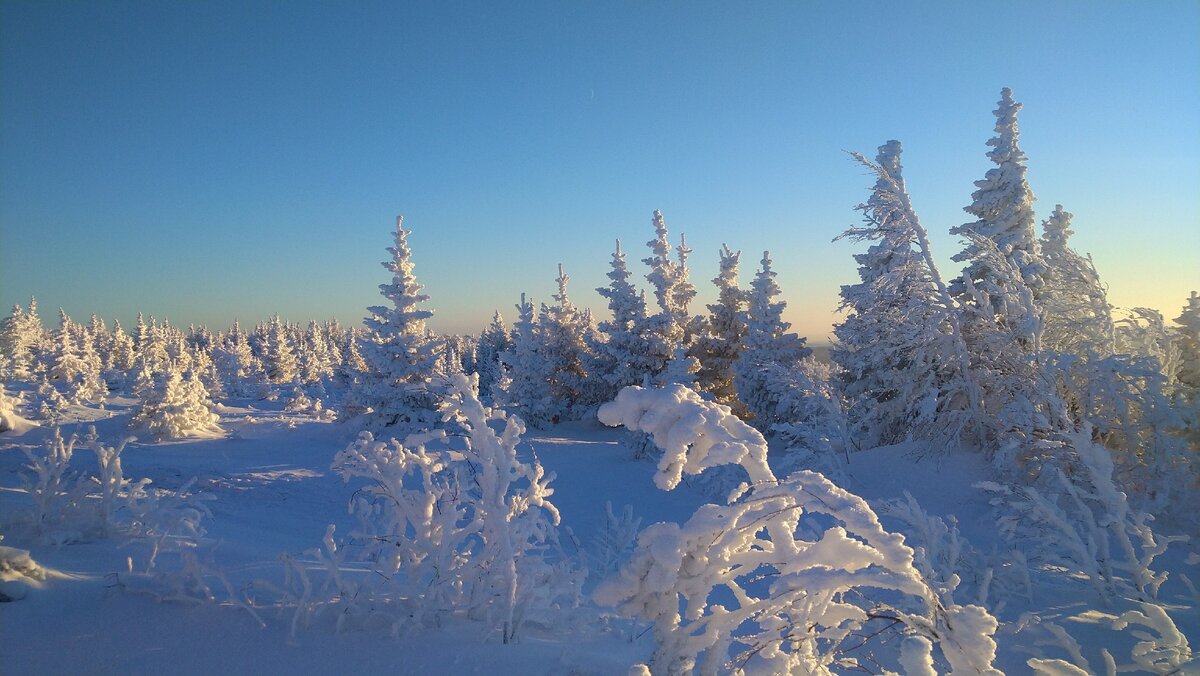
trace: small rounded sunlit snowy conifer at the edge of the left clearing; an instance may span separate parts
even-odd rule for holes
[[[133,430],[145,430],[156,439],[220,437],[224,432],[212,412],[208,390],[194,377],[185,378],[170,369],[146,393],[142,407],[130,420]]]

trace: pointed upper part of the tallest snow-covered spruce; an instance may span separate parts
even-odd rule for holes
[[[976,286],[991,286],[986,279],[997,274],[989,267],[986,257],[980,257],[982,252],[970,235],[991,240],[1001,256],[1016,268],[1020,280],[1034,297],[1042,289],[1046,264],[1042,259],[1038,237],[1033,229],[1033,191],[1025,180],[1027,157],[1018,144],[1020,133],[1016,114],[1020,110],[1021,104],[1013,100],[1013,90],[1007,86],[1002,89],[994,110],[996,136],[988,140],[991,146],[988,158],[996,166],[988,169],[982,180],[976,181],[977,190],[971,195],[971,205],[964,208],[977,220],[950,228],[950,234],[967,239],[966,249],[954,256],[954,261],[967,263],[962,277],[952,283],[952,289],[959,297],[971,295],[966,288],[967,280],[974,281]],[[1000,312],[1001,307],[996,306],[995,310]]]

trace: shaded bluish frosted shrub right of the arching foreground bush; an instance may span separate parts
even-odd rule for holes
[[[1151,564],[1181,538],[1154,533],[1154,518],[1129,504],[1090,425],[1040,442],[1038,451],[1054,460],[1031,484],[977,484],[996,496],[1001,532],[1030,556],[1086,575],[1106,604],[1117,593],[1154,599],[1166,574]]]

